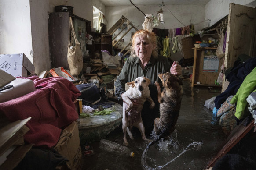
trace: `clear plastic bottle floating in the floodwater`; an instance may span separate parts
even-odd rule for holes
[[[130,151],[126,146],[122,146],[106,139],[101,139],[99,142],[99,148],[108,152],[115,153],[121,156],[134,156],[134,153]]]

